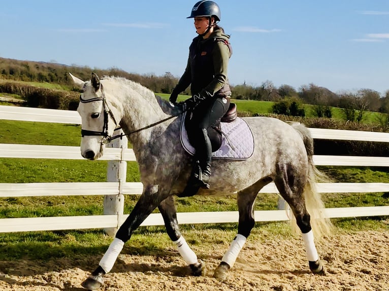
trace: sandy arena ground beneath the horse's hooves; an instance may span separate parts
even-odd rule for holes
[[[153,256],[123,253],[101,290],[389,290],[389,230],[335,234],[319,242],[326,276],[310,273],[299,238],[248,240],[225,282],[212,277],[225,249],[193,249],[207,265],[202,277],[187,275],[174,247]],[[100,259],[0,262],[0,290],[81,291],[80,283]]]

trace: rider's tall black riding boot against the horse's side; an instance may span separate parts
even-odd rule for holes
[[[209,179],[211,177],[211,155],[212,155],[212,145],[211,140],[209,139],[207,129],[201,129],[201,134],[199,136],[199,144],[203,147],[196,151],[196,157],[199,160],[200,164],[200,176],[199,176],[199,185],[202,188],[209,189]],[[199,147],[200,148],[200,147]]]

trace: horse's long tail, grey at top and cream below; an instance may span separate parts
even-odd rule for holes
[[[311,216],[314,235],[319,238],[322,235],[331,233],[333,225],[331,220],[325,217],[325,206],[321,201],[320,193],[317,192],[316,183],[318,181],[328,182],[330,179],[320,172],[313,163],[313,138],[308,128],[301,123],[294,123],[291,126],[300,134],[307,152],[309,169],[308,181],[304,189],[305,206]]]

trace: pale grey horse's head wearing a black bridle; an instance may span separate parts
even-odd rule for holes
[[[116,107],[109,106],[103,85],[96,74],[92,73],[91,80],[87,82],[72,74],[70,76],[82,89],[77,109],[81,116],[81,155],[89,160],[99,159],[105,144],[118,126],[119,113]]]

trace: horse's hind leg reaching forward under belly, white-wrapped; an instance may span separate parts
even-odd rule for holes
[[[262,187],[269,184],[271,180],[272,179],[270,177],[265,177],[261,180],[258,180],[250,187],[247,187],[238,192],[238,234],[232,241],[229,249],[224,253],[219,266],[214,272],[214,277],[216,279],[224,281],[227,278],[228,270],[231,269],[234,265],[239,252],[243,248],[247,237],[250,235],[250,232],[255,225],[253,207],[255,198]]]

